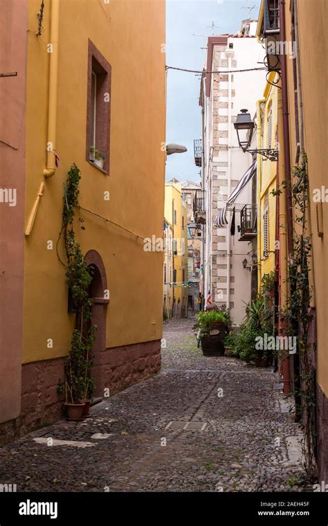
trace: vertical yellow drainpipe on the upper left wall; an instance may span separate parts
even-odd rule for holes
[[[59,37],[59,12],[60,0],[51,0],[51,28],[50,39],[52,53],[49,53],[49,90],[48,90],[48,137],[47,143],[51,143],[51,151],[46,154],[46,168],[44,177],[48,179],[55,175],[55,151],[57,131],[57,85],[58,85],[58,37]]]

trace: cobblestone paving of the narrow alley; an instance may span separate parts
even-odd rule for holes
[[[0,482],[17,491],[303,491],[286,448],[300,428],[273,372],[204,357],[187,320],[165,325],[164,337],[161,374],[95,406],[83,423],[61,421],[0,448]],[[170,421],[207,425],[165,429]]]

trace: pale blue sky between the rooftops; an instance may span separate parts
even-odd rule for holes
[[[256,19],[259,0],[167,0],[167,66],[201,71],[206,59],[202,48],[213,35],[212,22],[215,35],[237,33],[248,18],[246,6],[255,6],[250,17]],[[200,168],[194,164],[194,139],[201,138],[199,89],[200,75],[168,70],[166,143],[185,145],[188,152],[167,156],[166,181],[175,177],[200,182]]]

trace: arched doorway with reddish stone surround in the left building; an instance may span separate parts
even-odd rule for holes
[[[106,315],[109,304],[106,270],[102,258],[97,251],[86,253],[85,261],[92,269],[92,282],[89,296],[93,300],[92,323],[97,325],[95,341],[93,343],[93,379],[95,381],[95,396],[104,395],[104,364],[103,356],[106,351]]]

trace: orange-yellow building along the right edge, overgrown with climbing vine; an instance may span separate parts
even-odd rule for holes
[[[282,2],[277,16],[271,17],[273,7],[269,0],[262,0],[258,27],[259,34],[264,35],[267,30],[268,35],[275,35],[276,41],[285,46],[278,61],[281,72],[279,180],[280,183],[291,181],[298,199],[308,184],[304,213],[295,206],[288,186],[279,187],[282,189],[279,199],[282,307],[293,294],[287,280],[290,261],[298,265],[299,276],[307,280],[300,287],[302,305],[297,304],[300,307],[298,312],[302,313],[297,320],[298,336],[305,336],[301,342],[298,338],[298,352],[289,356],[291,374],[288,366],[284,369],[284,392],[288,394],[290,389],[293,390],[297,406],[302,407],[306,444],[309,445],[305,455],[307,471],[311,476],[318,476],[320,481],[327,480],[328,476],[328,284],[325,275],[328,262],[325,156],[328,142],[328,37],[321,29],[328,18],[328,3],[326,0]],[[266,19],[265,12],[269,13]],[[271,27],[274,24],[275,28]],[[305,163],[304,155],[307,158]],[[297,244],[300,242],[300,218],[306,221],[302,240],[306,249],[309,248],[309,257],[300,250],[304,245]],[[304,262],[307,263],[304,265]],[[302,341],[307,343],[305,350],[301,350]],[[307,403],[307,397],[311,398],[311,405]]]

